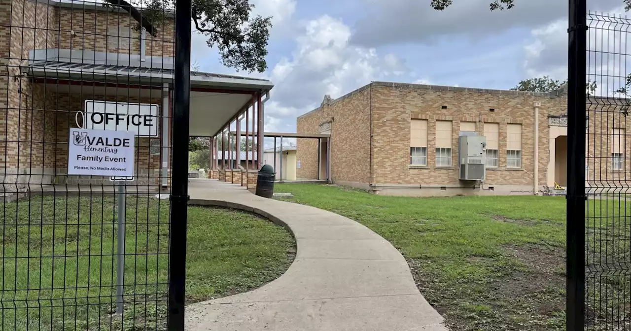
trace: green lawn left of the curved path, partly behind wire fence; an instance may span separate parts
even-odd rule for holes
[[[112,197],[33,197],[4,205],[0,330],[165,327],[168,201],[127,198],[122,316],[112,314],[116,203]],[[187,303],[276,279],[291,264],[294,245],[285,229],[253,214],[189,207]]]

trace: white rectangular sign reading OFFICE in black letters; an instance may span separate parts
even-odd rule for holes
[[[85,100],[83,128],[129,131],[139,137],[158,137],[158,105]]]

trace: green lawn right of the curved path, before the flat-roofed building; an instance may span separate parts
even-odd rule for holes
[[[389,240],[452,330],[565,330],[563,197],[386,197],[309,184],[280,184],[275,190],[293,193],[294,202],[358,221]],[[628,257],[631,222],[620,216],[631,215],[631,202],[588,204],[589,231],[598,233],[599,241],[613,238],[609,233],[619,239],[612,244],[617,250],[591,243],[589,258],[603,260],[604,252]],[[609,217],[598,218],[601,212]],[[591,286],[631,297],[624,277]],[[618,312],[610,320],[630,317],[628,307],[619,306],[622,300],[610,295],[600,301],[598,291],[590,296],[603,304],[597,310],[607,306]]]

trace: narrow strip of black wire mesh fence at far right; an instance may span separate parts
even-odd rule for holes
[[[584,327],[631,330],[631,20],[587,13],[587,27],[586,133],[575,132],[585,139]]]

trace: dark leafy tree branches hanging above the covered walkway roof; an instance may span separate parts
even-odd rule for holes
[[[154,36],[175,8],[175,0],[105,1],[128,11],[138,21],[137,28],[144,27]],[[142,11],[136,6],[142,6]],[[248,0],[192,0],[191,18],[196,30],[208,38],[206,45],[219,51],[224,66],[262,73],[268,68],[271,17],[251,17],[252,8]]]

